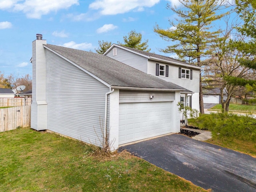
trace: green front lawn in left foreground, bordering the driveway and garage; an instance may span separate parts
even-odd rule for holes
[[[79,141],[30,128],[0,133],[3,192],[203,192],[128,152],[95,156]]]

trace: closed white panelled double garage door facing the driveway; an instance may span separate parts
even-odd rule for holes
[[[119,144],[171,132],[172,102],[120,103]]]

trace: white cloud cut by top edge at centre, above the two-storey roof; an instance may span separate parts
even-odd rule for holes
[[[102,15],[116,15],[131,10],[143,11],[144,7],[152,7],[160,0],[96,0],[89,5],[90,9],[100,10]]]

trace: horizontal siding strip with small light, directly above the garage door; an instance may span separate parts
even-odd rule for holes
[[[154,96],[150,99],[150,96]],[[119,91],[119,102],[174,101],[174,92]]]

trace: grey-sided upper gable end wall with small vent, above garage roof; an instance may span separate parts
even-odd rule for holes
[[[144,73],[147,73],[147,60],[148,60],[147,58],[131,53],[124,49],[120,49],[118,47],[113,47],[113,48],[116,48],[117,54],[113,56],[113,49],[112,49],[108,52],[108,54],[106,54],[106,56],[113,58],[115,60],[118,60],[140,71],[143,71]]]

